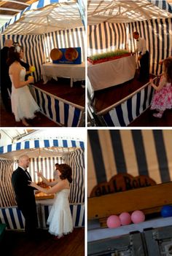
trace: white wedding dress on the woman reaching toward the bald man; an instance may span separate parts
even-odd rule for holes
[[[60,190],[56,193],[55,203],[52,205],[47,224],[49,232],[54,236],[63,236],[71,233],[73,222],[69,206],[69,189]]]

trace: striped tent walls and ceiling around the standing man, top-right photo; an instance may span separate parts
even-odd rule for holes
[[[150,73],[160,74],[161,59],[172,55],[172,7],[165,0],[88,1],[88,55],[136,45],[133,31],[146,39]]]

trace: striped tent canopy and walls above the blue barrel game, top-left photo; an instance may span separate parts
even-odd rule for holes
[[[5,39],[21,44],[26,62],[36,67],[36,81],[41,79],[42,63],[50,61],[55,47],[81,47],[85,61],[83,8],[82,0],[36,1],[0,28],[0,48]]]

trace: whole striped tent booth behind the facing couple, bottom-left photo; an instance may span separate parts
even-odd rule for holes
[[[17,168],[17,158],[20,155],[28,155],[30,158],[30,166],[28,172],[34,182],[38,182],[35,171],[42,170],[44,177],[53,179],[53,171],[55,163],[67,163],[72,168],[73,182],[71,183],[71,191],[69,202],[71,204],[71,213],[74,225],[84,225],[84,201],[85,201],[85,145],[83,141],[74,139],[30,139],[19,141],[0,147],[0,222],[6,222],[9,228],[23,227],[23,217],[15,206],[15,195],[11,185],[12,171]],[[39,225],[45,228],[47,214],[50,206],[48,201],[38,204],[38,216],[42,213]],[[14,217],[15,216],[15,217]],[[44,220],[44,223],[43,223]],[[13,223],[15,222],[15,224]],[[13,223],[10,225],[10,223]]]

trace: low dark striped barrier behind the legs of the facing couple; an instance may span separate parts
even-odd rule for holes
[[[52,206],[37,204],[37,214],[39,220],[39,228],[48,228],[47,217]],[[85,226],[85,205],[70,204],[71,215],[74,228]],[[6,223],[7,229],[20,230],[24,228],[25,219],[17,206],[9,208],[0,208],[0,223]]]

